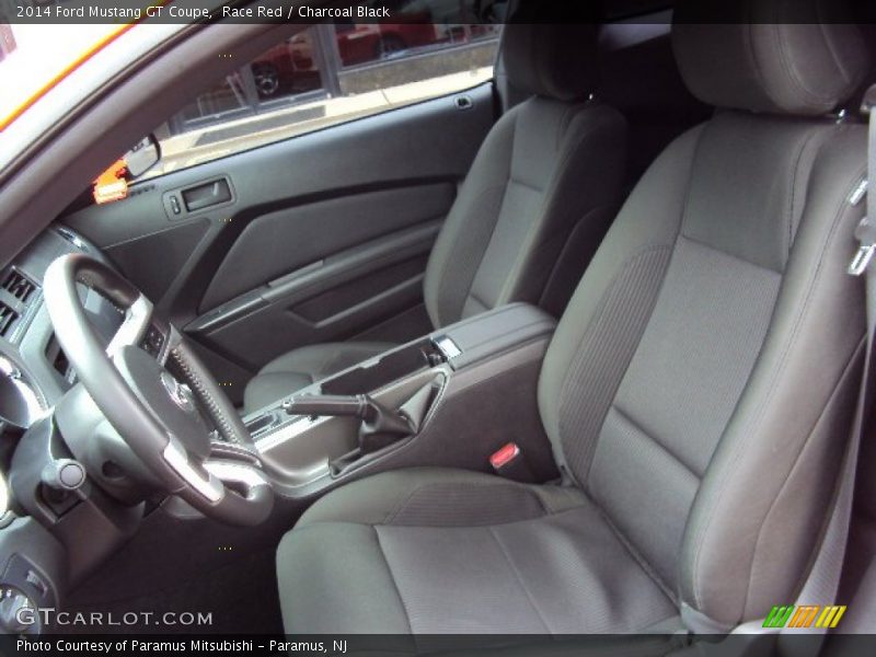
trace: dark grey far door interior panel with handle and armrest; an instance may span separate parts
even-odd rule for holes
[[[428,252],[494,120],[489,84],[464,110],[457,95],[169,173],[62,221],[200,343],[239,400],[288,349],[428,327]]]

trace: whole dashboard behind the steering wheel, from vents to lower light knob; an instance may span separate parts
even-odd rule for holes
[[[77,373],[60,347],[43,290],[49,265],[77,253],[112,267],[91,242],[55,224],[0,268],[0,493],[9,502],[9,510],[0,514],[0,634],[39,634],[41,622],[22,625],[12,612],[57,607],[71,579],[123,544],[142,516],[142,504],[111,500],[85,479],[55,422],[64,397],[77,411],[84,404],[83,435],[91,439],[103,430],[103,416],[76,385]],[[83,285],[78,292],[91,331],[108,346],[125,321],[124,311]],[[153,327],[147,337],[142,347],[160,353],[163,334]],[[74,493],[65,480],[71,472],[79,477]],[[101,530],[82,541],[83,527]]]

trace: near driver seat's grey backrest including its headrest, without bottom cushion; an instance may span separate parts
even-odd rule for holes
[[[825,113],[867,55],[839,24],[678,23],[673,47],[724,108],[624,205],[539,404],[561,464],[689,625],[722,630],[794,599],[854,410],[863,293],[845,268],[866,129]]]

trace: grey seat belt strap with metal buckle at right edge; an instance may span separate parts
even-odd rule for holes
[[[830,520],[818,550],[809,576],[800,590],[795,608],[803,606],[832,606],[840,588],[842,576],[842,565],[845,557],[845,549],[849,543],[849,529],[852,520],[852,506],[854,502],[855,474],[857,471],[858,454],[866,419],[869,415],[873,393],[871,388],[874,384],[874,337],[876,336],[876,263],[872,263],[876,253],[876,84],[867,90],[864,96],[862,112],[869,114],[868,138],[867,138],[867,180],[866,186],[862,185],[852,194],[850,203],[861,201],[865,189],[869,189],[866,206],[866,216],[861,220],[855,230],[855,238],[860,246],[857,253],[849,264],[849,274],[852,276],[864,276],[866,287],[866,314],[867,314],[867,335],[866,353],[864,356],[864,371],[862,376],[861,389],[858,391],[857,406],[855,408],[852,431],[843,457],[840,470],[839,489],[831,511]],[[816,618],[816,622],[820,616]],[[782,634],[795,634],[805,632],[811,635],[820,633],[822,636],[830,627],[820,626],[821,624],[835,624],[839,621],[837,615],[830,623],[817,623],[818,626],[809,625],[805,629],[785,627]],[[780,637],[781,639],[781,637]],[[806,647],[811,648],[810,654],[815,655],[821,647],[822,641],[814,641]],[[796,645],[799,650],[802,646]]]

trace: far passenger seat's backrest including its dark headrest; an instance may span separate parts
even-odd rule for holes
[[[596,53],[589,25],[506,26],[508,77],[532,97],[491,130],[435,244],[424,293],[436,327],[538,303],[573,233],[578,276],[599,245],[616,211],[626,124],[588,99]]]

